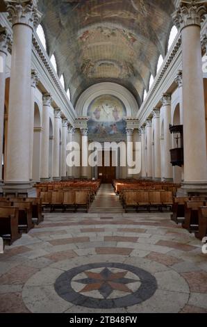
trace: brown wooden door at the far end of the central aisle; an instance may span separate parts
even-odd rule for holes
[[[105,156],[110,156],[110,165],[105,166]],[[116,178],[116,167],[112,166],[112,151],[110,153],[106,153],[103,151],[102,153],[102,166],[98,167],[98,175],[99,179],[104,184],[111,184],[113,180]]]

